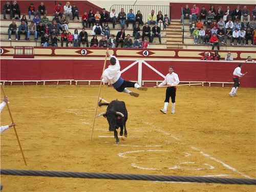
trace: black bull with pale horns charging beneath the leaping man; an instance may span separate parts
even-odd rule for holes
[[[126,131],[126,121],[128,118],[128,113],[125,107],[125,103],[123,101],[114,100],[110,103],[102,103],[101,100],[98,103],[99,106],[107,105],[106,112],[97,115],[100,117],[101,115],[108,119],[109,122],[109,131],[114,131],[114,137],[116,138],[116,143],[119,143],[117,129],[120,127],[120,136],[123,135],[124,128],[124,137],[127,137]]]

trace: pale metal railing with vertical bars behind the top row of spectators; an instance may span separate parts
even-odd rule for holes
[[[168,14],[168,17],[171,19],[172,17],[172,6],[160,6],[160,5],[112,5],[110,7],[110,12],[112,9],[116,10],[116,13],[119,13],[121,8],[124,9],[124,12],[129,13],[130,9],[133,9],[133,13],[136,15],[137,11],[140,10],[142,14],[143,23],[147,23],[148,14],[151,13],[151,10],[155,10],[156,15],[158,11],[162,12],[162,15]]]

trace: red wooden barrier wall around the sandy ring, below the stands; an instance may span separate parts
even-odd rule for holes
[[[131,65],[134,60],[120,60],[121,70]],[[232,72],[237,62],[225,61],[143,61],[166,75],[168,67],[174,66],[181,81],[232,82]],[[109,65],[109,64],[107,64]],[[103,60],[82,59],[1,59],[1,81],[11,80],[99,80]],[[123,72],[122,77],[138,80],[138,63]],[[256,87],[255,63],[243,63],[242,72],[248,72],[242,79],[243,87]],[[163,77],[142,64],[142,80],[161,81]]]

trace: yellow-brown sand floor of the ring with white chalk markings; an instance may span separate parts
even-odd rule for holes
[[[161,114],[165,88],[140,97],[102,87],[126,103],[127,138],[115,144],[103,117],[90,140],[98,87],[9,86],[13,129],[1,134],[1,168],[76,172],[255,178],[255,89],[179,87],[176,113]],[[1,98],[3,94],[1,95]],[[98,108],[97,113],[106,108]],[[1,125],[10,123],[8,109]],[[1,175],[3,191],[255,191],[249,185],[18,177]]]

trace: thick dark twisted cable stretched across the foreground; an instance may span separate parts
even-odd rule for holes
[[[86,173],[86,172],[58,172],[58,171],[47,171],[47,170],[22,170],[22,169],[1,169],[1,175],[256,185],[256,179],[110,174],[110,173]]]

